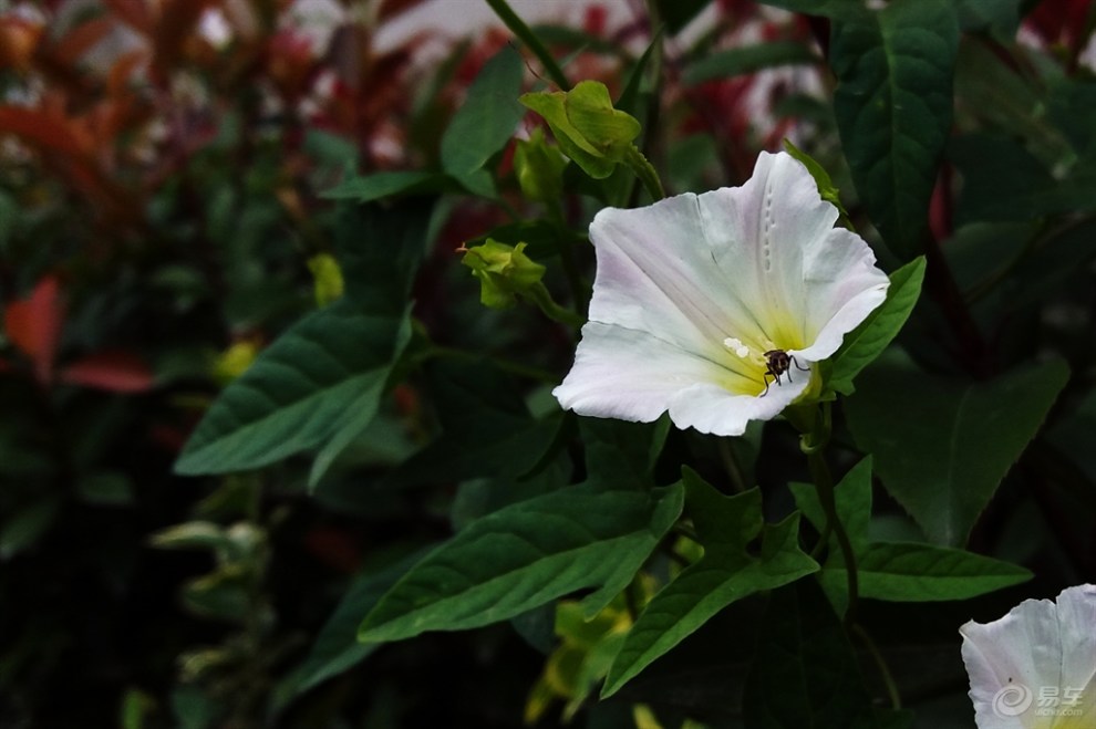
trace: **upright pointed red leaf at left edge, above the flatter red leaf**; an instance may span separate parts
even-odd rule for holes
[[[43,385],[53,379],[53,360],[61,339],[64,305],[56,277],[48,275],[27,299],[8,304],[3,326],[8,339],[34,364],[34,378]]]

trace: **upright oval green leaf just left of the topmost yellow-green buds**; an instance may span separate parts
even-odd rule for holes
[[[463,183],[506,146],[525,114],[517,101],[524,71],[521,56],[509,45],[484,64],[442,136],[446,173]]]

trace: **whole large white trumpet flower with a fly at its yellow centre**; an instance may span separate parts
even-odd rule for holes
[[[560,405],[642,423],[669,410],[724,436],[775,417],[886,298],[871,249],[837,216],[785,153],[763,153],[742,187],[601,210],[590,321]]]

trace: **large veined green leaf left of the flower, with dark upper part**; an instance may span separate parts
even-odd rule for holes
[[[411,336],[407,296],[428,207],[342,210],[343,300],[289,329],[206,413],[175,468],[224,473],[317,447],[311,483],[373,419]]]

